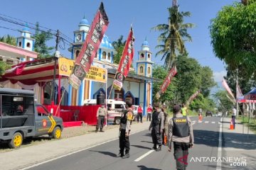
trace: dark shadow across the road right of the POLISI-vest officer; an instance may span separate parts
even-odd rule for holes
[[[210,130],[193,130],[196,145],[207,145],[218,147],[219,132]],[[223,147],[233,147],[237,149],[256,149],[256,135],[248,135],[233,132],[223,132]]]

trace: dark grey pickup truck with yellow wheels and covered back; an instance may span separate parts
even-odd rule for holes
[[[60,139],[62,118],[35,103],[33,91],[0,88],[0,142],[21,147],[26,137],[49,135]]]

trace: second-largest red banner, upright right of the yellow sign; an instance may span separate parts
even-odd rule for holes
[[[122,89],[122,84],[124,82],[124,79],[127,77],[129,73],[129,67],[131,67],[133,56],[134,56],[134,35],[133,35],[133,29],[131,28],[127,38],[127,42],[124,45],[124,50],[122,52],[122,57],[119,62],[117,73],[114,77],[114,81],[113,81],[114,89],[117,89],[117,90]]]

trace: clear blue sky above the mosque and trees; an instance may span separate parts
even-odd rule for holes
[[[220,81],[225,74],[223,62],[218,60],[213,54],[212,46],[210,45],[210,34],[208,27],[210,19],[215,18],[222,6],[233,4],[235,0],[178,0],[180,11],[190,11],[191,17],[186,18],[187,23],[194,23],[195,28],[188,31],[193,38],[193,42],[186,43],[189,56],[196,58],[203,66],[209,66],[213,69],[215,80]],[[238,0],[237,0],[238,1]],[[120,35],[127,38],[129,27],[132,23],[135,35],[135,51],[134,60],[137,60],[137,51],[141,50],[142,42],[147,38],[151,47],[151,52],[154,54],[155,46],[157,45],[158,32],[151,30],[152,27],[159,23],[167,23],[168,11],[171,6],[171,0],[149,1],[149,0],[103,0],[107,16],[110,20],[110,25],[107,28],[107,36],[114,41]],[[41,26],[59,29],[68,37],[73,38],[73,31],[78,30],[78,23],[85,15],[85,18],[92,22],[97,8],[100,5],[100,0],[1,0],[0,13],[14,18],[19,18],[23,21],[36,23],[38,21]],[[16,26],[11,23],[6,23],[0,20],[0,26],[9,28],[21,29],[21,26]],[[11,34],[14,36],[20,35],[17,31],[6,30],[0,28],[0,36]],[[50,42],[54,45],[54,42]],[[70,52],[66,50],[61,52],[63,55],[70,57]],[[162,64],[159,58],[153,60],[157,64]]]

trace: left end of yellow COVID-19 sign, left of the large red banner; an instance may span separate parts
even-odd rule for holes
[[[70,76],[74,68],[74,60],[70,60],[64,57],[60,57],[58,60],[59,75]]]

